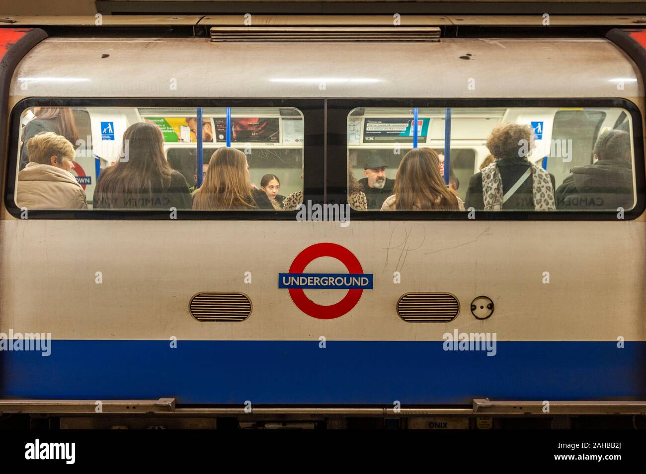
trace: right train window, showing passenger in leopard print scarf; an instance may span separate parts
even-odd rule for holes
[[[348,115],[348,202],[356,210],[628,211],[635,179],[632,120],[621,108]]]

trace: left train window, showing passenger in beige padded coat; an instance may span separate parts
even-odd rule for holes
[[[20,124],[21,209],[274,211],[302,199],[297,108],[31,107]]]

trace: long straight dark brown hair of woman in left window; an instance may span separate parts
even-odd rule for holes
[[[172,168],[163,151],[160,128],[138,122],[123,133],[124,159],[105,168],[99,175],[94,190],[94,201],[101,207],[112,207],[112,202],[133,195],[152,197],[154,192],[167,190],[171,185]]]

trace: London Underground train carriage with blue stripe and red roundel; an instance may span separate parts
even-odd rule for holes
[[[447,35],[448,17],[401,20],[210,17],[184,36],[119,25],[57,35],[37,19],[1,28],[3,417],[637,425],[646,32]],[[87,206],[29,208],[26,144],[37,121],[63,115]],[[271,175],[302,206],[100,206],[101,174],[128,161],[124,133],[138,123],[160,130],[187,193],[230,147],[257,188]],[[555,192],[600,163],[599,137],[623,134],[628,191],[549,210],[472,205],[508,124],[531,130],[527,160]],[[443,160],[464,210],[380,210],[388,192],[371,172],[396,181],[415,148]]]

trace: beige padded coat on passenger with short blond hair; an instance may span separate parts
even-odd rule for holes
[[[49,164],[27,163],[18,173],[19,208],[87,209],[85,191],[72,173]]]

